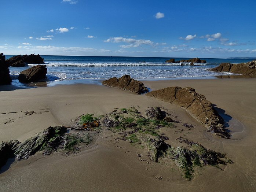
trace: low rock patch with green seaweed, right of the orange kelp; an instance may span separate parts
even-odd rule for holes
[[[173,123],[167,121],[172,119],[171,116],[168,112],[161,111],[160,107],[149,107],[145,112],[147,117],[143,117],[134,107],[114,110],[101,120],[102,129],[119,134],[120,137],[115,140],[128,141],[142,149],[147,148],[147,158],[152,162],[173,160],[187,180],[193,178],[196,166],[218,167],[232,163],[225,154],[206,149],[201,144],[183,137],[177,138],[179,143],[183,143],[182,146],[171,146],[165,143],[168,137],[164,136],[161,130],[175,128]],[[173,119],[171,121],[173,122]],[[138,156],[141,155],[138,154]],[[144,160],[147,159],[142,159]]]

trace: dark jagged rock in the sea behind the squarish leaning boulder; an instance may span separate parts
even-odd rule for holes
[[[41,56],[31,54],[31,55],[17,55],[14,57],[11,57],[10,59],[6,60],[6,63],[8,66],[11,67],[24,67],[26,63],[32,63],[32,64],[44,64],[44,59],[41,58]]]

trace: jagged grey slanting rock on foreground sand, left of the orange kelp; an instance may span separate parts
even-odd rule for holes
[[[61,141],[61,136],[66,133],[67,129],[63,126],[49,127],[37,136],[25,140],[21,143],[15,155],[18,159],[28,159],[30,155],[34,155],[37,151],[45,148],[55,148]]]

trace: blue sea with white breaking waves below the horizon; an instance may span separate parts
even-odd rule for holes
[[[15,55],[6,55],[6,59]],[[207,69],[220,63],[245,63],[251,59],[212,59],[200,58],[207,63],[166,63],[170,58],[163,57],[116,57],[116,56],[53,56],[42,55],[47,67],[44,82],[47,85],[94,83],[111,77],[121,77],[128,74],[136,80],[169,80],[169,79],[209,79],[220,75],[238,75],[231,73],[211,72]],[[173,58],[175,61],[191,58]],[[10,67],[12,84],[23,86],[18,81],[21,71],[37,64],[25,67]]]

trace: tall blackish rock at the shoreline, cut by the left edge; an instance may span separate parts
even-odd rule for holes
[[[6,64],[6,56],[4,53],[0,54],[0,85],[9,85],[11,84],[10,70]]]

